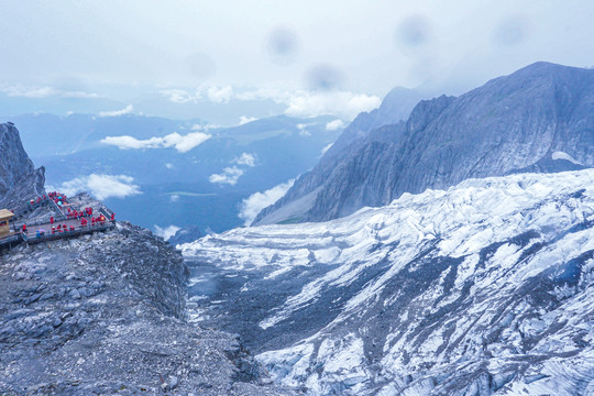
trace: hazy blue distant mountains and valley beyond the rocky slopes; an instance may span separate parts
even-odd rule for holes
[[[11,119],[18,122],[29,151],[35,153],[34,161],[45,165],[50,186],[61,188],[89,175],[124,175],[133,178],[130,184],[139,186],[142,194],[106,198],[118,218],[152,229],[197,226],[217,232],[241,226],[238,213],[243,199],[314,167],[322,150],[342,132],[326,129],[334,117],[278,116],[202,130],[211,138],[187,152],[175,147],[120,150],[100,141],[121,135],[138,140],[174,132],[187,135],[202,122],[132,114],[26,114]],[[226,176],[226,168],[242,173],[234,184],[210,182],[212,175]]]

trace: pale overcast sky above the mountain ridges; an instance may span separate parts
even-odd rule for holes
[[[594,65],[593,1],[1,0],[0,15],[4,96],[132,111],[146,92],[296,116],[338,98],[350,119],[395,86],[460,94],[536,61]]]

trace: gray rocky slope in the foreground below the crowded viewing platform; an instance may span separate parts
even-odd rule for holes
[[[235,336],[189,324],[188,270],[150,231],[21,245],[0,260],[0,394],[292,395]]]

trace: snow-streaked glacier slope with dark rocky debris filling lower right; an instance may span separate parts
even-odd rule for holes
[[[195,320],[309,395],[594,394],[594,170],[180,245]]]

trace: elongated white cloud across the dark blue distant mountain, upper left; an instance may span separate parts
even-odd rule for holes
[[[103,144],[114,145],[120,150],[175,147],[179,153],[187,153],[210,138],[211,136],[209,134],[202,132],[191,132],[186,135],[180,135],[179,133],[174,132],[163,138],[151,138],[146,140],[139,140],[128,135],[107,136],[100,142]]]

